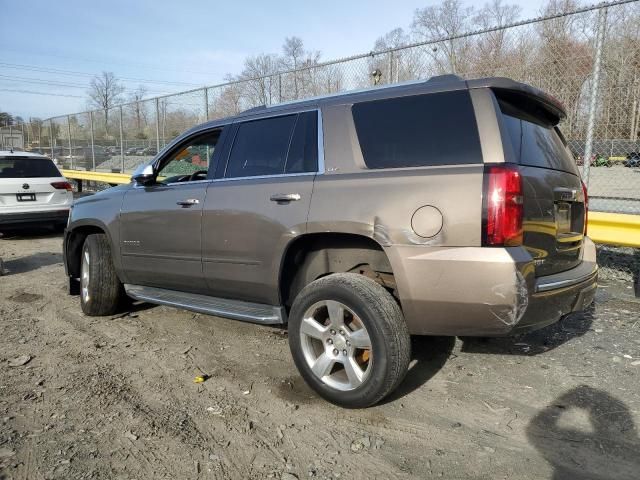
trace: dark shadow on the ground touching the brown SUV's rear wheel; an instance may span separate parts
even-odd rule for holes
[[[427,383],[444,366],[455,343],[455,337],[411,337],[411,362],[407,375],[381,404],[399,400]]]

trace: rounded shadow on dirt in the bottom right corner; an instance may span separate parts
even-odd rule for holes
[[[603,390],[580,385],[561,395],[533,417],[527,438],[553,467],[553,480],[640,478],[631,411]]]

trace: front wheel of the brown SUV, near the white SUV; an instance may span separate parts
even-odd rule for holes
[[[80,257],[80,305],[85,315],[104,316],[116,313],[124,298],[124,288],[111,257],[107,236],[87,236]]]

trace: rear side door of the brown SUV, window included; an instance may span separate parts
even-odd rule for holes
[[[215,296],[279,301],[287,244],[306,231],[318,169],[318,112],[240,122],[223,178],[207,190],[204,276]]]

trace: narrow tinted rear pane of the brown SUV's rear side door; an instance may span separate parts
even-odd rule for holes
[[[318,113],[301,113],[291,139],[285,173],[316,172],[317,170]]]

